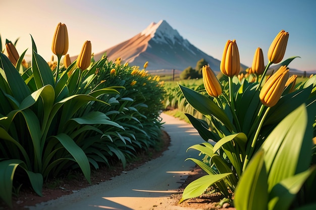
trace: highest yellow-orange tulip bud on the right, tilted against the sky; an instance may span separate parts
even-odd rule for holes
[[[268,51],[268,59],[272,63],[279,63],[284,57],[289,33],[284,30],[280,31],[273,40]]]

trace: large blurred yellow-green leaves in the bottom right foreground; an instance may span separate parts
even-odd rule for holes
[[[315,166],[309,166],[313,122],[314,116],[301,105],[274,128],[238,183],[237,209],[285,210],[315,205],[296,197],[308,178],[316,178]]]

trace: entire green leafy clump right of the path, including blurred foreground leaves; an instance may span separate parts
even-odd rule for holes
[[[294,58],[280,65],[288,66]],[[205,141],[188,148],[203,155],[201,160],[187,160],[207,175],[191,182],[180,202],[212,186],[237,209],[315,208],[310,195],[316,189],[316,77],[296,84],[293,91],[287,86],[273,107],[259,98],[264,79],[254,74],[222,78],[223,92],[216,98],[179,85],[187,103],[207,119],[186,113]]]

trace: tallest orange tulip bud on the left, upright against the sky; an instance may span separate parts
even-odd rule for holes
[[[58,57],[66,55],[68,51],[68,31],[65,24],[57,25],[54,38],[52,39],[51,50]]]

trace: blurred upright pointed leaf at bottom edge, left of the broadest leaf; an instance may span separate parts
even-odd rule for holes
[[[238,210],[268,209],[268,175],[264,152],[257,152],[239,179],[234,204]]]

